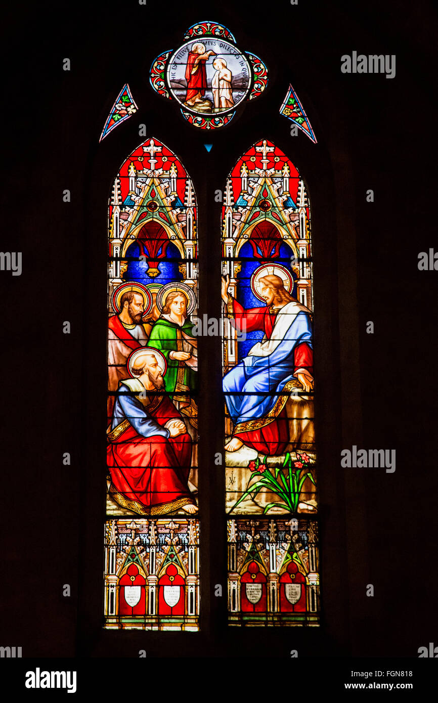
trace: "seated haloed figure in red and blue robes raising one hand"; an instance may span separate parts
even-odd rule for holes
[[[238,331],[262,330],[257,342],[224,376],[226,406],[233,420],[233,437],[226,451],[243,444],[280,456],[290,441],[285,404],[293,387],[314,387],[310,311],[287,290],[280,276],[259,278],[264,307],[243,309],[228,295],[229,276],[222,278],[222,299]],[[299,384],[297,383],[299,382]],[[301,388],[300,388],[301,390]]]

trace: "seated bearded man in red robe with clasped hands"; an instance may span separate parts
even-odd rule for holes
[[[196,512],[188,489],[191,437],[162,393],[165,360],[148,347],[134,354],[129,365],[134,378],[120,382],[108,428],[110,494],[122,508],[140,515]]]

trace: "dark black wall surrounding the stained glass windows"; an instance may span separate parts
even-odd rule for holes
[[[417,657],[436,639],[438,250],[435,45],[423,0],[20,4],[3,11],[1,640],[23,657]],[[224,129],[183,120],[149,84],[153,58],[200,20],[223,23],[270,70]],[[344,53],[395,54],[396,77],[343,75]],[[64,72],[63,58],[71,60]],[[129,82],[139,111],[99,144]],[[318,138],[278,114],[292,82]],[[311,200],[320,453],[321,628],[226,626],[219,340],[202,339],[202,631],[102,629],[108,194],[156,136],[199,205],[200,312],[219,316],[220,205],[238,157],[269,138]],[[205,143],[212,143],[207,153]],[[70,204],[62,193],[69,188]],[[366,202],[372,188],[375,201]],[[214,280],[217,285],[214,287]],[[72,332],[63,335],[63,321]],[[366,334],[373,321],[375,333]],[[395,449],[397,469],[344,470],[352,445]],[[63,452],[72,456],[63,465]],[[72,596],[64,598],[63,584]],[[372,583],[374,597],[366,597]]]

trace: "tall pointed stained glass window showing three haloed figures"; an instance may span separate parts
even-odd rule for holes
[[[147,139],[108,208],[105,627],[198,630],[197,205]]]

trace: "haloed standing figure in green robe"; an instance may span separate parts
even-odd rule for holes
[[[181,290],[168,293],[160,318],[153,324],[148,347],[159,349],[167,361],[166,391],[173,394],[179,411],[197,427],[197,413],[191,392],[198,388],[198,340],[187,316],[187,297]]]

